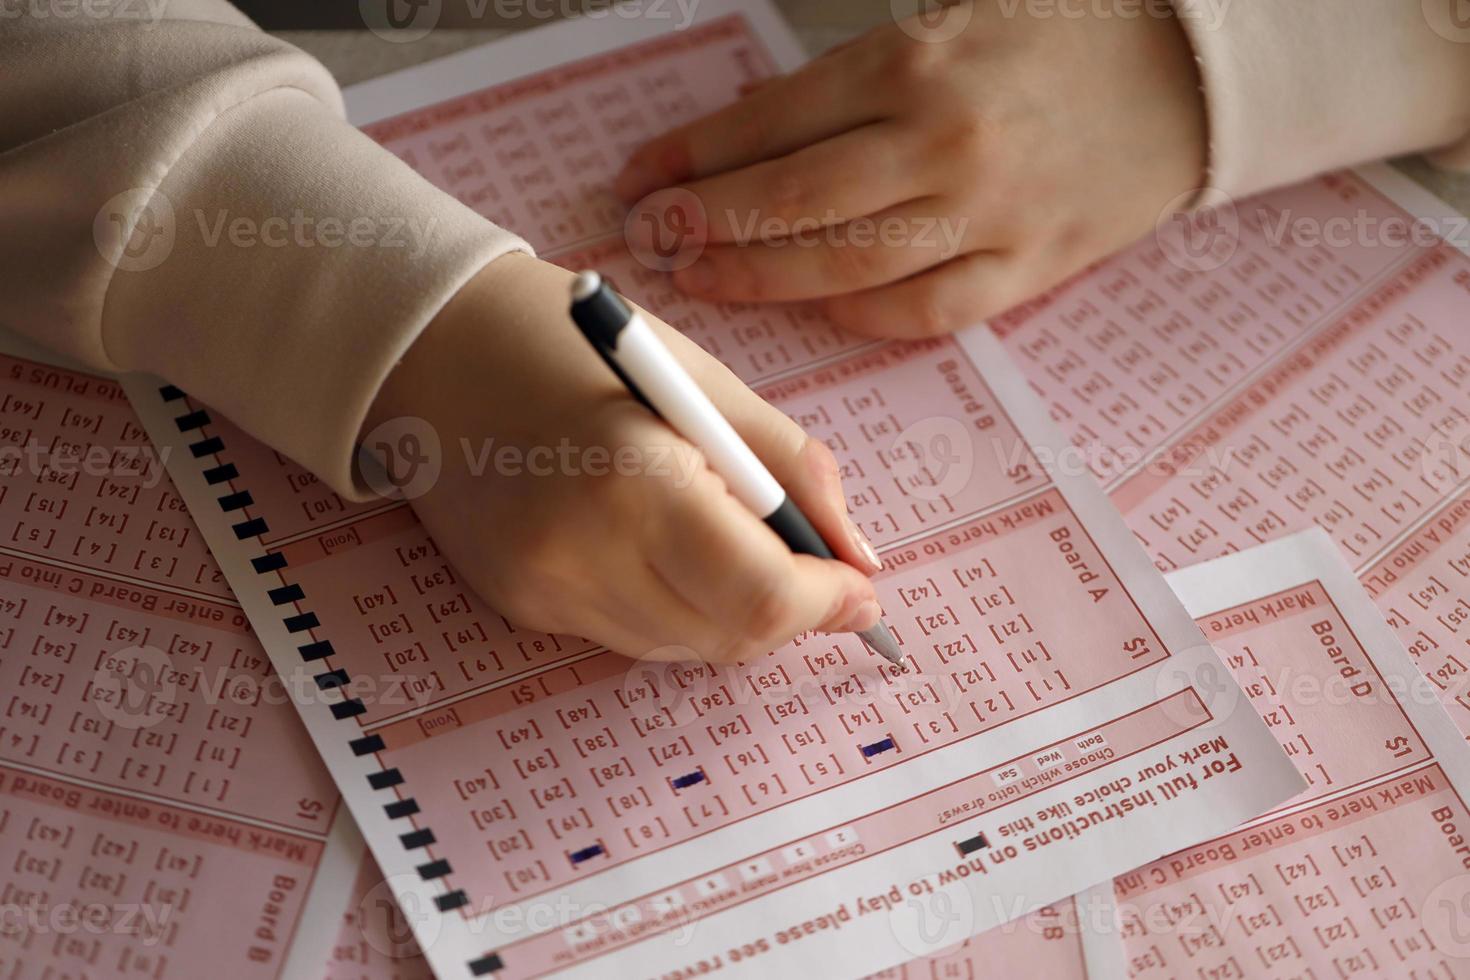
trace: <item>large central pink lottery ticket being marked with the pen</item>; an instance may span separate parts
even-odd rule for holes
[[[861,976],[1028,917],[980,942],[1078,959],[1089,915],[1036,909],[1299,777],[1260,718],[1214,711],[1219,660],[1091,476],[1047,461],[1060,435],[986,331],[861,342],[810,310],[682,303],[623,253],[606,184],[628,150],[798,57],[763,4],[666,26],[556,25],[348,100],[833,448],[919,671],[851,636],[716,669],[516,629],[403,501],[345,505],[185,392],[129,394],[440,977]],[[1080,942],[1047,945],[1048,917]]]

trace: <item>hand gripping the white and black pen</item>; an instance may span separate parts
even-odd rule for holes
[[[517,626],[660,660],[750,660],[807,630],[878,623],[876,555],[828,448],[648,317],[842,561],[791,554],[628,395],[567,317],[570,281],[529,256],[492,262],[365,425],[417,417],[440,435],[442,472],[413,507],[469,585]],[[512,469],[497,464],[506,447]]]

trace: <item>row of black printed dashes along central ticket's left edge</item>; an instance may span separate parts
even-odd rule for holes
[[[187,395],[173,385],[163,385],[159,388],[159,397],[163,398],[165,404],[172,404],[178,401],[187,403]],[[178,406],[175,406],[178,407]],[[240,478],[240,470],[234,463],[223,463],[218,457],[225,451],[225,442],[218,435],[207,435],[204,428],[213,420],[209,411],[204,408],[185,410],[184,414],[173,417],[173,423],[178,430],[194,442],[188,444],[188,451],[196,460],[204,460],[206,457],[215,457],[213,466],[207,466],[203,470],[204,482],[210,486],[226,485],[226,492],[218,498],[219,508],[229,514],[232,519],[238,516],[237,523],[231,526],[235,538],[238,541],[250,541],[265,535],[269,527],[263,517],[250,517],[248,508],[254,504],[254,498],[250,491],[237,491],[231,485],[232,480]],[[263,548],[263,545],[262,545]],[[287,558],[279,551],[263,551],[256,558],[250,560],[251,569],[257,574],[270,574],[281,572],[287,567]],[[297,652],[301,660],[309,664],[323,661],[334,655],[332,644],[326,639],[316,639],[312,636],[312,630],[320,626],[316,613],[301,611],[301,604],[306,602],[306,591],[300,585],[278,585],[275,588],[266,589],[266,598],[275,607],[291,607],[295,611],[287,613],[282,610],[281,621],[290,633],[306,633],[304,642],[297,646]],[[322,673],[316,674],[316,686],[319,691],[332,691],[337,688],[345,688],[350,683],[347,670],[343,667],[322,666]],[[331,705],[332,717],[338,721],[347,718],[356,718],[368,711],[368,707],[360,698],[343,698]],[[363,735],[347,743],[353,751],[353,755],[373,755],[376,757],[387,746],[384,745],[381,735]],[[378,760],[381,763],[381,760]],[[376,773],[368,774],[368,785],[375,790],[388,790],[397,786],[403,786],[404,777],[397,768],[384,768]],[[407,820],[419,813],[419,804],[413,796],[400,796],[390,804],[384,804],[384,813],[390,820]],[[429,848],[435,842],[434,830],[428,827],[416,827],[406,833],[398,835],[398,842],[406,851],[417,851],[420,848]],[[417,865],[419,877],[425,882],[435,882],[440,879],[447,879],[451,873],[450,862],[445,858],[434,858],[432,854],[428,855],[429,861]],[[451,912],[457,908],[469,905],[469,896],[463,889],[453,889],[437,895],[434,898],[434,905],[441,912]],[[470,959],[467,964],[469,973],[473,977],[484,977],[498,970],[504,968],[504,962],[500,959],[498,954],[488,954],[479,956],[478,959]]]

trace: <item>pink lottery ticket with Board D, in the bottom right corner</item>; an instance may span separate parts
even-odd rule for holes
[[[1326,532],[1170,585],[1307,789],[1116,880],[1129,976],[1470,976],[1470,749]]]

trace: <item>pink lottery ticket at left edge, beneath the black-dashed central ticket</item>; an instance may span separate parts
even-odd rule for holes
[[[0,977],[319,977],[362,845],[121,385],[0,354]]]

